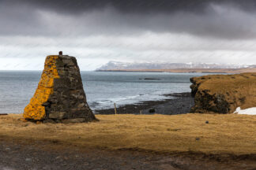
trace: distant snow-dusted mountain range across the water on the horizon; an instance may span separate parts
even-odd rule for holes
[[[106,70],[147,70],[147,69],[227,69],[227,68],[256,68],[256,65],[234,65],[217,63],[126,63],[110,61],[97,68],[97,71]]]

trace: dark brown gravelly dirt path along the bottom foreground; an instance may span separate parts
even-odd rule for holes
[[[54,149],[55,148],[55,149]],[[252,157],[216,157],[205,155],[170,155],[136,150],[100,150],[63,148],[49,143],[33,146],[0,142],[1,170],[36,169],[256,169]]]

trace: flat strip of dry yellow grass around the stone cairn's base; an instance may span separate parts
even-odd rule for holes
[[[98,115],[88,124],[34,124],[21,114],[0,116],[0,137],[64,146],[179,153],[256,153],[256,116],[186,114]],[[209,120],[209,124],[205,121]],[[196,139],[199,140],[196,140]]]

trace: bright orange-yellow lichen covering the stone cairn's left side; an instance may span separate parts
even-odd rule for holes
[[[24,108],[23,116],[25,119],[43,120],[45,118],[46,113],[43,103],[47,102],[53,93],[54,80],[59,78],[58,70],[56,69],[57,59],[58,55],[47,56],[36,93]]]

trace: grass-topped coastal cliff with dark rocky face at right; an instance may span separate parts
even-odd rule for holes
[[[256,106],[256,73],[193,77],[190,113],[234,113]]]

